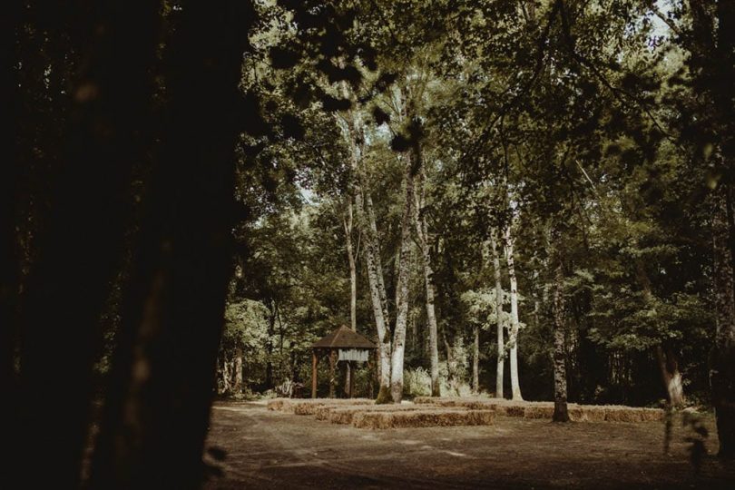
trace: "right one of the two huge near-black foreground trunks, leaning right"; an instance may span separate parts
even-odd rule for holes
[[[238,83],[252,17],[243,2],[187,2],[168,46],[167,130],[113,359],[93,488],[201,485],[230,269]]]

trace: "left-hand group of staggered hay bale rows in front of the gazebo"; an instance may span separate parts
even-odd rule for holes
[[[296,415],[313,415],[332,424],[358,428],[387,429],[436,426],[489,426],[495,410],[468,407],[440,407],[433,404],[375,405],[368,399],[316,398],[295,400],[276,398],[270,410]]]

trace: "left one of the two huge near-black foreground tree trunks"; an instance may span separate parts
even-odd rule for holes
[[[72,11],[54,5],[33,10],[44,23],[35,28],[48,29],[54,39],[68,34],[82,63],[67,89],[69,121],[52,122],[63,128],[64,145],[49,150],[59,163],[47,177],[51,211],[21,305],[20,444],[13,452],[23,460],[13,470],[30,488],[79,485],[100,313],[122,259],[132,169],[150,142],[145,122],[151,120],[158,6],[67,8]],[[27,46],[20,47],[30,56]],[[48,50],[60,59],[67,55],[53,43]]]

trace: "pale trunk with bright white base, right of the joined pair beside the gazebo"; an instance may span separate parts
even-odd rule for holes
[[[414,154],[415,158],[420,158]],[[411,225],[414,208],[414,175],[411,159],[406,162],[406,200],[401,220],[401,249],[398,262],[396,292],[396,328],[393,332],[393,353],[390,359],[390,394],[394,403],[403,397],[403,358],[406,349],[406,321],[408,316],[408,279],[411,259]]]

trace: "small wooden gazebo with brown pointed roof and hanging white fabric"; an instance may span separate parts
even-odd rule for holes
[[[317,397],[317,365],[319,358],[329,359],[329,397],[334,397],[335,368],[337,363],[348,363],[348,397],[352,397],[355,387],[354,368],[358,362],[369,362],[370,352],[377,348],[375,344],[364,338],[358,332],[341,326],[328,336],[319,338],[311,345],[313,358],[311,362],[311,397]]]

